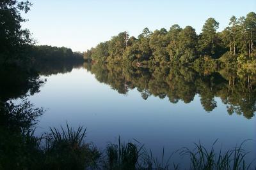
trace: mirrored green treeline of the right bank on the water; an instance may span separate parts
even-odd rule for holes
[[[248,89],[246,78],[235,77],[231,71],[200,75],[188,67],[177,66],[135,67],[95,63],[91,66],[86,64],[87,67],[98,81],[110,85],[120,94],[127,94],[129,89],[136,88],[145,100],[153,95],[160,99],[168,97],[171,103],[179,100],[190,103],[196,94],[200,94],[205,111],[216,108],[214,97],[221,97],[230,115],[237,113],[251,118],[256,111],[255,80],[250,79]]]

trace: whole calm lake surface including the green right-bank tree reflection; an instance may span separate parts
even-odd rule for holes
[[[53,73],[53,74],[52,74]],[[188,68],[84,64],[41,71],[47,82],[28,100],[47,108],[36,134],[60,127],[87,127],[87,141],[101,150],[111,141],[136,139],[166,155],[200,141],[229,149],[256,139],[255,80],[232,73],[196,73]],[[19,99],[17,100],[19,101]],[[256,155],[256,141],[244,149]],[[173,161],[181,162],[178,154]]]

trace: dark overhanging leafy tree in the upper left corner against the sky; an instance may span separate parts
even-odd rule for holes
[[[21,13],[27,13],[32,4],[29,1],[6,0],[0,3],[0,62],[18,62],[25,59],[28,45],[32,43],[30,33],[22,29],[26,20]]]

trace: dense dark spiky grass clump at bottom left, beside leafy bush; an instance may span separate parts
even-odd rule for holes
[[[45,137],[44,169],[86,169],[97,167],[100,152],[90,143],[85,143],[86,129],[76,130],[68,126],[61,131],[50,128]]]

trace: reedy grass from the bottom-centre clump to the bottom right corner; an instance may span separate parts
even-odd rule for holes
[[[205,148],[200,142],[194,143],[195,148],[193,150],[186,147],[180,148],[168,156],[167,159],[163,148],[161,159],[158,160],[152,156],[151,150],[150,153],[147,153],[144,145],[141,145],[138,141],[136,141],[136,143],[139,145],[131,143],[131,141],[128,143],[122,143],[119,137],[118,144],[110,143],[107,146],[104,169],[168,170],[184,168],[171,161],[174,153],[179,153],[180,157],[183,158],[188,157],[191,162],[188,168],[193,170],[251,169],[252,162],[250,164],[246,164],[246,155],[248,152],[243,150],[244,144],[249,140],[251,139],[243,141],[241,145],[230,148],[230,150],[227,150],[226,152],[223,152],[222,150],[217,152],[214,149],[218,140],[214,141],[209,150],[207,150],[207,148]]]

